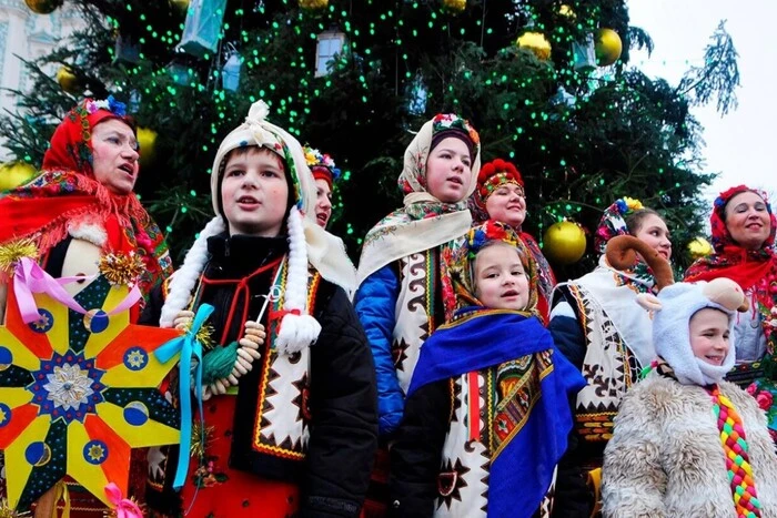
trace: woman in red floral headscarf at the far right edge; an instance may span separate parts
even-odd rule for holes
[[[775,346],[777,345],[777,219],[765,192],[737,185],[720,193],[710,216],[714,253],[697,260],[685,281],[728,277],[745,291],[750,309],[734,325],[736,366],[728,379],[747,386],[767,409],[769,429],[777,437]]]

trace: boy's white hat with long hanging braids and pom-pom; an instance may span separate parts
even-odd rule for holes
[[[240,126],[223,140],[216,152],[211,171],[211,196],[216,216],[205,225],[191,250],[183,266],[170,282],[170,292],[162,307],[160,325],[172,326],[173,318],[184,309],[196,286],[196,282],[208,263],[206,241],[226,230],[219,211],[221,192],[219,174],[226,154],[238,148],[255,145],[278,153],[284,162],[292,180],[295,205],[286,220],[289,231],[289,275],[283,308],[287,313],[281,322],[276,346],[280,351],[293,353],[306,347],[319,336],[321,325],[307,313],[307,263],[325,280],[340,285],[347,293],[356,286],[356,271],[351,263],[342,240],[321,228],[314,217],[315,181],[305,163],[302,146],[283,129],[265,120],[269,108],[264,101],[253,103]],[[293,313],[292,313],[293,312]]]

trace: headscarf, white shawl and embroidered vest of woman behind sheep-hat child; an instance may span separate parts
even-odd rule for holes
[[[623,396],[655,356],[649,315],[634,303],[638,294],[654,290],[653,271],[642,260],[618,270],[605,254],[613,237],[629,235],[625,217],[639,209],[640,202],[624,197],[605,210],[595,235],[598,265],[581,278],[559,284],[554,295],[549,329],[558,349],[586,379],[575,402],[573,447],[559,467],[569,471],[557,486],[561,505],[569,507],[567,516],[588,516],[586,508],[593,509],[598,500],[599,469],[613,418]],[[573,480],[582,487],[565,486]],[[581,492],[592,501],[586,502]]]

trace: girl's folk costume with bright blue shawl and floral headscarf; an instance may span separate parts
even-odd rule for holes
[[[521,250],[526,311],[475,297],[474,256],[488,241]],[[549,516],[546,494],[572,430],[568,398],[584,380],[537,318],[536,265],[512,228],[473,228],[452,261],[458,308],[421,349],[391,448],[391,515]]]

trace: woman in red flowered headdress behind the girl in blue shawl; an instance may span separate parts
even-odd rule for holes
[[[470,209],[476,223],[496,220],[518,233],[521,242],[537,263],[537,311],[547,325],[551,322],[551,298],[556,276],[537,241],[521,230],[526,221],[526,192],[521,172],[502,159],[484,164],[477,174],[477,187],[470,197]]]

